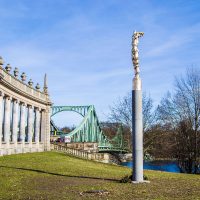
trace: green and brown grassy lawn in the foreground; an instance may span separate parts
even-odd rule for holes
[[[0,157],[0,199],[200,199],[200,176],[145,171],[150,184],[120,183],[131,170],[45,152]],[[108,194],[84,193],[106,190]]]

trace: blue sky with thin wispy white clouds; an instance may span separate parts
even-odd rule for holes
[[[141,76],[155,106],[175,76],[200,67],[199,10],[198,0],[0,0],[0,55],[35,83],[47,72],[54,105],[93,104],[105,120],[131,90],[134,30],[145,33]],[[55,121],[80,119],[61,113]]]

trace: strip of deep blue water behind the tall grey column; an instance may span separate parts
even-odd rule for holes
[[[122,165],[132,168],[132,161],[124,162]],[[156,160],[144,162],[144,169],[180,173],[176,161]]]

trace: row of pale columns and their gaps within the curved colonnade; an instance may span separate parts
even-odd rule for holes
[[[1,143],[39,143],[41,138],[41,108],[27,105],[0,92]]]

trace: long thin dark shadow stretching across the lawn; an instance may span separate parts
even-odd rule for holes
[[[120,183],[120,180],[117,179],[111,179],[111,178],[99,178],[99,177],[90,177],[90,176],[71,176],[71,175],[65,175],[65,174],[58,174],[54,172],[46,172],[43,170],[39,169],[27,169],[27,168],[22,168],[22,167],[9,167],[9,166],[1,166],[0,168],[8,168],[8,169],[17,169],[17,170],[24,170],[24,171],[31,171],[31,172],[37,172],[37,173],[42,173],[42,174],[50,174],[54,176],[62,176],[62,177],[70,177],[70,178],[82,178],[82,179],[94,179],[94,180],[105,180],[105,181],[112,181],[112,182],[118,182]]]

